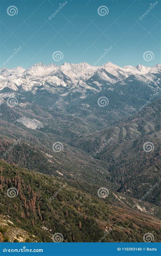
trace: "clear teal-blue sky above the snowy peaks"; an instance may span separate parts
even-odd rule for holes
[[[1,67],[160,63],[160,1],[0,0],[0,5]]]

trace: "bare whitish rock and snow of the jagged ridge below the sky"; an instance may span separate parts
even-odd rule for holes
[[[65,62],[61,65],[54,63],[44,65],[39,62],[28,69],[24,69],[23,67],[15,67],[13,69],[2,67],[0,69],[0,91],[6,87],[17,91],[20,86],[25,91],[32,91],[34,86],[39,87],[40,85],[47,89],[47,84],[50,84],[53,88],[59,86],[72,87],[78,81],[89,81],[98,72],[100,72],[100,76],[102,75],[104,77],[106,72],[109,74],[109,77],[107,76],[104,79],[108,83],[117,82],[116,78],[117,80],[126,79],[130,75],[148,76],[150,74],[153,78],[154,74],[160,72],[160,66],[160,64],[153,67],[137,65],[121,68],[111,62],[102,66],[92,66],[86,62],[77,64]],[[112,79],[112,76],[115,79]],[[158,81],[160,81],[159,78]]]

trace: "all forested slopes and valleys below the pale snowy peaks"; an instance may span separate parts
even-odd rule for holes
[[[52,235],[61,233],[64,242],[142,242],[148,232],[159,241],[159,185],[146,193],[159,184],[160,102],[139,111],[153,88],[145,90],[133,76],[125,82],[86,98],[73,92],[51,111],[59,93],[44,90],[19,92],[12,108],[1,104],[0,218],[7,225],[0,222],[0,241],[53,242]],[[109,99],[105,108],[97,104],[101,96]],[[43,128],[16,122],[22,116]],[[59,153],[52,149],[57,141],[64,145]],[[150,153],[143,150],[148,141],[154,144]],[[97,196],[101,187],[108,197]],[[10,188],[18,195],[8,197]]]

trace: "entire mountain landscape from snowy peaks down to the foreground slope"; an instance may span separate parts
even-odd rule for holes
[[[159,241],[160,67],[0,69],[3,241]]]

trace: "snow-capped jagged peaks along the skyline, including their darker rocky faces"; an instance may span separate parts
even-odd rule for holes
[[[0,90],[8,88],[12,91],[24,90],[36,92],[38,89],[64,92],[75,87],[75,90],[101,91],[106,86],[122,81],[131,75],[150,86],[159,87],[161,65],[154,67],[124,66],[119,67],[111,62],[103,66],[92,66],[85,62],[78,64],[64,63],[44,65],[37,63],[28,69],[16,67],[0,69]],[[154,86],[155,85],[155,86]]]

